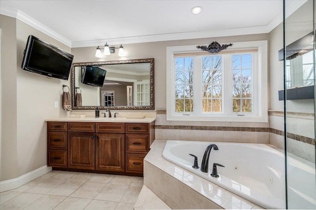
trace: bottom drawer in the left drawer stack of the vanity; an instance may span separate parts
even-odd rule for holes
[[[67,150],[47,150],[47,166],[67,168]]]

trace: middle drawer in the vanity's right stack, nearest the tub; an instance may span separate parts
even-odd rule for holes
[[[126,152],[147,153],[149,151],[148,134],[126,134]]]

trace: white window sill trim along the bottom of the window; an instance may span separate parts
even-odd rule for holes
[[[257,122],[267,123],[266,116],[197,116],[197,115],[169,115],[166,114],[167,121],[208,121],[208,122]]]

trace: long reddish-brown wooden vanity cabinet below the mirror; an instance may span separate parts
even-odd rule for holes
[[[47,122],[47,165],[55,170],[143,174],[155,122]]]

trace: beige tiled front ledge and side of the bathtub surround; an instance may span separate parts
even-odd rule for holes
[[[166,140],[155,140],[144,159],[144,185],[171,209],[262,209],[162,157]]]

